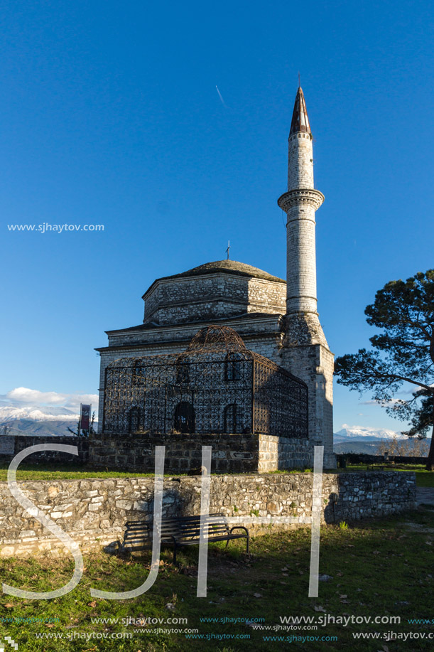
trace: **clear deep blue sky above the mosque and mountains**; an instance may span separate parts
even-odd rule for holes
[[[96,392],[104,331],[228,238],[285,276],[298,70],[325,194],[320,319],[336,355],[365,346],[376,289],[434,264],[432,28],[428,1],[6,1],[0,393]],[[104,232],[7,229],[24,223]],[[336,385],[335,429],[401,427],[359,402]]]

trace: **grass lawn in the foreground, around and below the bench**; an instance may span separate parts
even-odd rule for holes
[[[18,652],[153,652],[153,651],[278,651],[283,649],[354,652],[411,652],[430,649],[421,639],[410,643],[360,642],[352,634],[360,631],[428,632],[433,626],[408,624],[407,619],[433,616],[433,533],[434,512],[419,510],[385,520],[369,520],[349,525],[327,525],[321,530],[320,573],[332,577],[320,582],[319,597],[308,597],[310,530],[270,533],[254,537],[251,555],[244,544],[233,541],[209,547],[207,597],[197,598],[197,547],[179,555],[180,567],[172,564],[170,550],[163,550],[156,583],[141,597],[108,601],[92,599],[90,587],[125,591],[138,587],[147,577],[150,554],[142,558],[109,556],[102,552],[85,555],[85,573],[80,584],[65,597],[52,600],[24,600],[0,597],[0,621],[5,617],[58,618],[48,627],[40,622],[25,624],[0,622],[0,635],[12,636]],[[72,562],[44,557],[39,560],[0,560],[3,582],[28,590],[49,590],[65,584],[72,575]],[[173,611],[166,604],[174,605]],[[275,631],[252,629],[244,623],[205,624],[201,617],[264,618],[268,626],[281,624],[279,616],[400,616],[401,624],[340,626],[329,624],[317,631],[278,634],[337,636],[337,642],[277,643],[264,641]],[[183,617],[188,624],[160,625],[163,629],[189,627],[200,634],[247,634],[248,640],[194,641],[183,634],[153,636],[146,628],[121,624],[92,624],[92,617],[125,618],[153,616]],[[50,624],[50,623],[49,623]],[[82,639],[55,641],[35,638],[37,633],[89,635],[122,631],[134,632],[131,640]],[[432,642],[432,641],[431,641]]]

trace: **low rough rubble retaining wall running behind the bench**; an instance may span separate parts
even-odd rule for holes
[[[149,518],[153,478],[19,482],[21,491],[82,550],[121,540],[127,520]],[[199,476],[168,478],[163,515],[200,513]],[[264,474],[211,477],[210,513],[223,513],[251,531],[295,528],[310,523],[313,474]],[[338,523],[411,509],[416,476],[406,472],[324,474],[322,522]],[[0,556],[64,553],[60,540],[16,503],[0,482]],[[258,525],[255,518],[260,517]],[[283,520],[283,517],[285,519]]]

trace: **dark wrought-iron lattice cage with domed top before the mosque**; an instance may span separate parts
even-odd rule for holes
[[[183,353],[121,358],[106,369],[103,432],[308,436],[308,388],[227,326]]]

